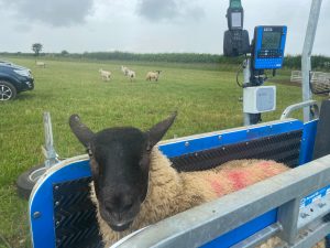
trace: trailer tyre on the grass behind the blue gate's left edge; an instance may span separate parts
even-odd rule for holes
[[[16,180],[19,196],[29,200],[34,184],[46,172],[44,164],[38,164],[23,172]]]

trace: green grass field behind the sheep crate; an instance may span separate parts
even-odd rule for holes
[[[242,126],[242,89],[235,72],[219,65],[142,64],[132,62],[46,61],[9,58],[32,69],[35,89],[0,104],[0,248],[30,247],[28,202],[15,193],[15,180],[26,169],[43,162],[43,112],[52,116],[55,148],[62,158],[84,153],[72,134],[68,117],[79,114],[92,130],[134,126],[142,130],[178,111],[166,138]],[[135,82],[125,78],[120,65],[136,72]],[[102,82],[99,68],[109,69],[111,82]],[[162,69],[158,83],[145,80],[148,71]],[[288,80],[289,72],[278,78]],[[278,119],[286,106],[300,101],[299,87],[277,85],[277,110],[263,120]],[[6,241],[4,241],[6,240]]]

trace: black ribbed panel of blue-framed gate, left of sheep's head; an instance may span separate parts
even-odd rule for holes
[[[101,248],[96,207],[89,198],[91,177],[53,185],[57,248]]]

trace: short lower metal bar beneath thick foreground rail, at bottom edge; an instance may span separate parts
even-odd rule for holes
[[[249,238],[244,239],[243,241],[232,246],[231,248],[253,248],[257,245],[261,245],[264,240],[275,236],[282,229],[280,224],[275,223],[266,228],[257,231],[256,234],[250,236]]]

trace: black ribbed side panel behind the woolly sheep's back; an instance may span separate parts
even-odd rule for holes
[[[295,168],[299,162],[302,131],[293,131],[249,142],[223,145],[200,152],[170,158],[178,171],[200,171],[215,168],[230,160],[266,159]]]

